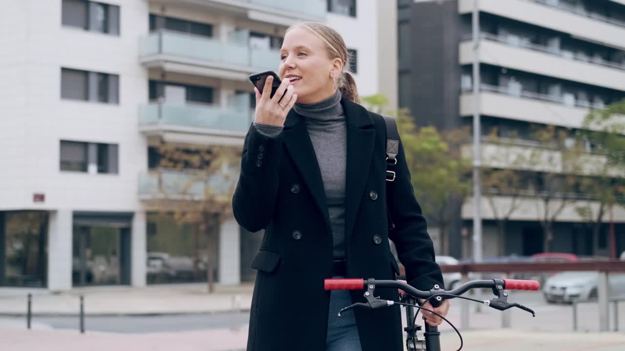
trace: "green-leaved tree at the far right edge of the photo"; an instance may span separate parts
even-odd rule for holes
[[[576,210],[591,225],[597,247],[604,215],[614,205],[622,205],[619,192],[625,185],[625,100],[607,109],[592,110],[583,127],[578,134],[577,151],[584,164],[581,172],[590,175],[582,181],[589,201]],[[592,147],[592,154],[586,146]],[[591,200],[597,205],[592,206]]]

